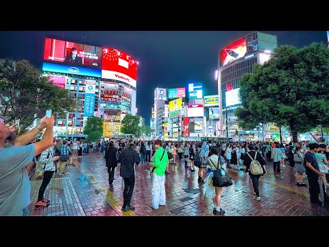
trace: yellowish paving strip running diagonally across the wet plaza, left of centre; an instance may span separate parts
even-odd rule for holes
[[[99,191],[99,193],[101,193],[101,195],[103,195],[106,200],[108,201],[108,204],[110,204],[110,206],[117,211],[117,213],[119,213],[119,215],[123,215],[123,216],[137,216],[136,213],[134,213],[134,211],[121,211],[121,208],[123,206],[123,202],[114,195],[114,193],[112,191],[110,191],[110,189],[106,191],[106,189],[103,189],[103,187],[101,186],[101,183],[99,183],[96,179],[95,176],[93,176],[92,173],[90,173],[86,168],[82,167],[82,165],[80,164],[80,162],[76,161],[75,162],[75,167],[77,167],[77,169],[79,169],[84,175],[86,175],[89,178],[89,181],[92,185],[94,185],[96,187],[96,189]]]

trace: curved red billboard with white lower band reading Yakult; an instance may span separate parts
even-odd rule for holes
[[[119,80],[136,88],[137,61],[118,49],[103,47],[101,78]]]

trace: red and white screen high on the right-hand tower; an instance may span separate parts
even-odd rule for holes
[[[246,53],[247,45],[245,43],[245,38],[240,38],[221,50],[221,66],[238,58],[242,58]]]

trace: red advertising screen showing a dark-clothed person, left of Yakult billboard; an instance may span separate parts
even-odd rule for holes
[[[43,59],[74,67],[101,69],[101,47],[46,38]]]

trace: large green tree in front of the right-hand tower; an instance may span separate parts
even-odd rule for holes
[[[282,45],[263,65],[255,64],[252,74],[243,75],[239,86],[239,126],[286,126],[296,142],[297,132],[329,121],[329,49],[323,43],[301,49]]]

